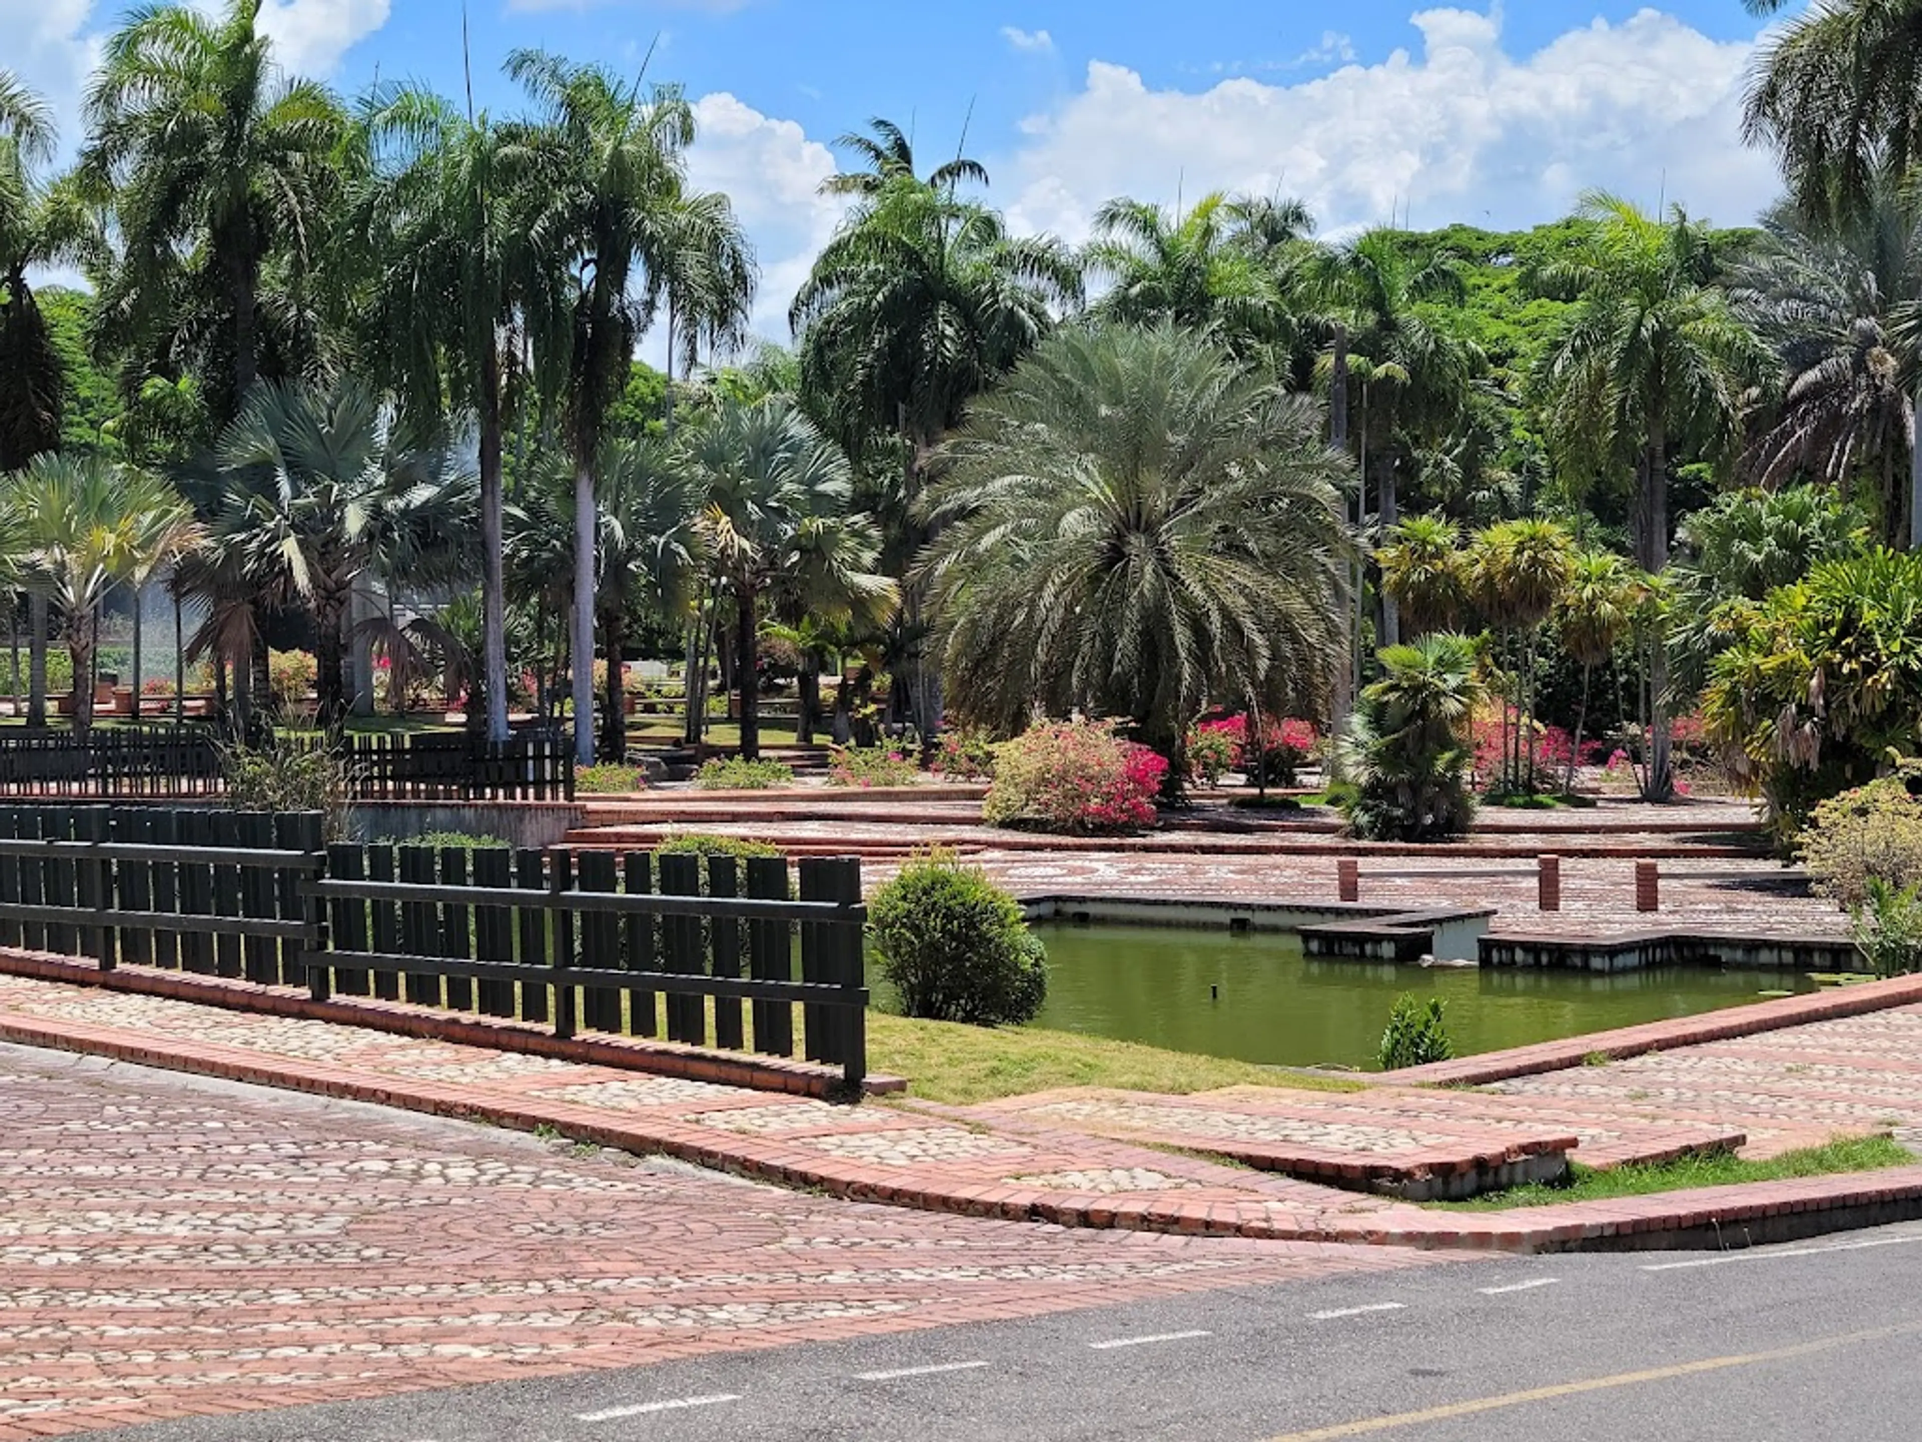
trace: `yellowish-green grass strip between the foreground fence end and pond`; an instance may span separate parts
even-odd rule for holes
[[[1163,1052],[1065,1031],[963,1027],[867,1013],[867,1065],[907,1077],[907,1094],[930,1102],[992,1102],[1055,1086],[1121,1086],[1138,1092],[1207,1092],[1215,1086],[1297,1086],[1359,1092],[1357,1082],[1257,1067],[1249,1061]]]

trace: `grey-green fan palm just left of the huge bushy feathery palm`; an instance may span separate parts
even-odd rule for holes
[[[761,754],[759,611],[776,588],[811,598],[825,621],[871,611],[894,596],[875,575],[880,540],[851,515],[848,458],[786,396],[727,400],[688,440],[702,492],[698,531],[713,575],[734,598],[740,671],[740,754]]]

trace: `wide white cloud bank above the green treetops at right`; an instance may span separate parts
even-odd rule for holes
[[[1078,94],[1024,121],[1013,156],[994,160],[1015,183],[1009,219],[1080,240],[1109,196],[1226,188],[1303,196],[1324,231],[1397,208],[1417,227],[1509,227],[1563,215],[1599,186],[1734,225],[1776,192],[1770,158],[1739,140],[1747,42],[1643,10],[1518,58],[1499,6],[1413,23],[1420,54],[1297,85],[1157,90],[1094,62]]]

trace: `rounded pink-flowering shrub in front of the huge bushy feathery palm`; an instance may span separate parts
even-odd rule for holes
[[[982,819],[1071,836],[1134,831],[1153,825],[1167,773],[1167,758],[1109,723],[1047,723],[996,748]]]

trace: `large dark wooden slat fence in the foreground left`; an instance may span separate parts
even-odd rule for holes
[[[319,825],[0,808],[0,946],[513,1017],[555,1036],[800,1050],[853,1090],[867,1075],[855,859],[801,859],[796,896],[782,858],[323,850]]]

